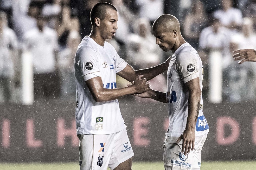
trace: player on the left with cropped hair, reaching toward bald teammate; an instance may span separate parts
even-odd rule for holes
[[[90,18],[91,34],[81,41],[74,61],[80,169],[130,170],[134,154],[117,99],[148,91],[147,80],[167,70],[170,60],[134,70],[105,41],[118,29],[116,8],[99,2],[92,8]],[[116,74],[134,81],[133,86],[117,89]]]

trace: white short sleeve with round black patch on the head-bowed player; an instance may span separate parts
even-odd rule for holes
[[[179,54],[177,70],[181,74],[184,83],[199,77],[200,63],[198,56],[189,52]]]

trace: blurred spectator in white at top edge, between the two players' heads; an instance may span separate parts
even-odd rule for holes
[[[136,0],[136,3],[140,6],[140,17],[148,18],[151,25],[164,12],[164,0]]]

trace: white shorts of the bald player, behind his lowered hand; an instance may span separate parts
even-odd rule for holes
[[[200,169],[201,151],[206,140],[208,131],[203,136],[195,137],[194,150],[190,151],[187,156],[181,153],[182,140],[176,144],[179,137],[165,137],[164,141],[164,168],[165,170],[174,169]]]

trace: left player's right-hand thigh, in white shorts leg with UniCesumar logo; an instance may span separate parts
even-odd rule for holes
[[[126,129],[114,136],[114,147],[108,167],[113,170],[130,170],[134,155]]]

